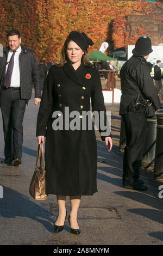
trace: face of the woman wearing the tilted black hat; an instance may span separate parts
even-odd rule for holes
[[[84,54],[83,50],[74,41],[68,43],[66,52],[71,64],[80,63]]]

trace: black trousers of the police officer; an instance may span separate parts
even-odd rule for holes
[[[126,147],[123,158],[123,184],[133,185],[139,178],[139,167],[145,147],[147,118],[145,109],[122,115],[126,130]]]

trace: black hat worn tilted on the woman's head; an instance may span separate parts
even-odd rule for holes
[[[71,31],[68,38],[74,42],[83,50],[87,51],[89,45],[93,45],[93,41],[84,33],[79,33],[78,31]]]

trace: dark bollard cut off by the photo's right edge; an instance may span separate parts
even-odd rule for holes
[[[156,132],[154,179],[163,181],[163,111],[156,113],[158,120]]]

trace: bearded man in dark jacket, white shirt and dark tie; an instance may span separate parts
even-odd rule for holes
[[[12,29],[7,34],[7,48],[0,57],[1,95],[0,106],[3,118],[4,155],[1,163],[21,164],[23,143],[23,117],[26,103],[35,88],[34,104],[41,100],[40,74],[32,50],[21,44],[20,33]]]

